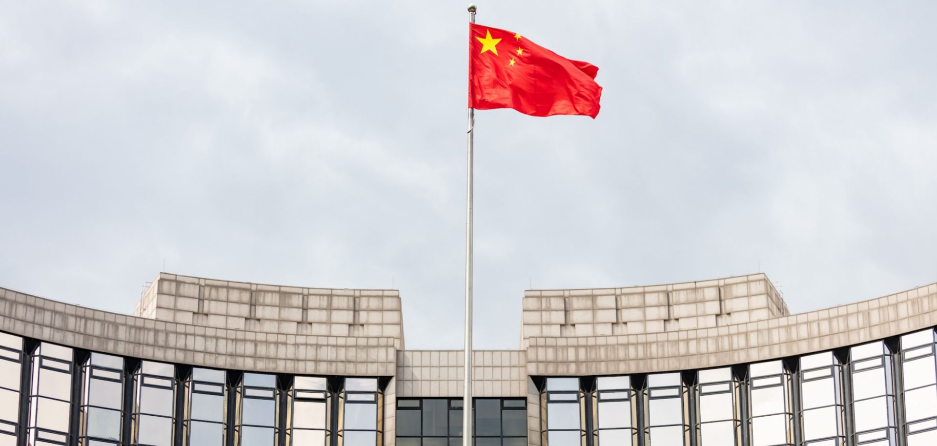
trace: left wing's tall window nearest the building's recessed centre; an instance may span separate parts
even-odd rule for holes
[[[346,378],[340,396],[343,406],[339,446],[380,444],[381,400],[378,379]]]

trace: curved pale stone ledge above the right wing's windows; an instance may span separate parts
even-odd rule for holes
[[[937,283],[748,323],[648,334],[528,338],[531,376],[648,373],[745,364],[937,326]]]

